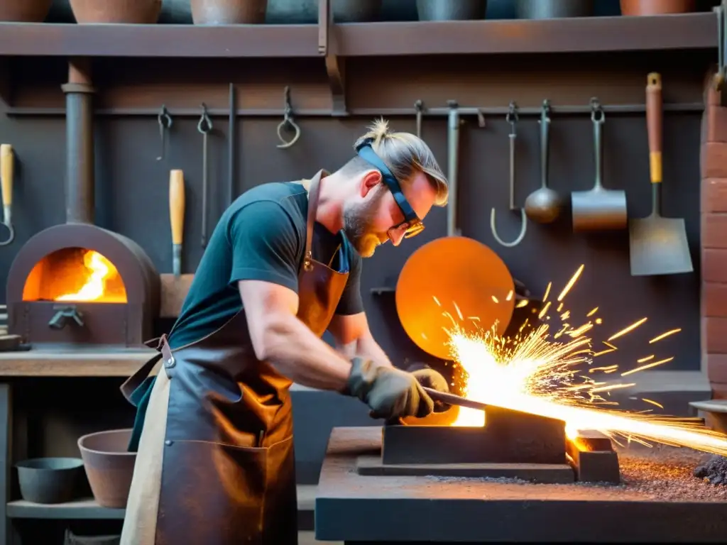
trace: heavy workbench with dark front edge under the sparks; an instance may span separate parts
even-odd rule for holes
[[[316,495],[318,540],[364,545],[727,538],[727,501],[713,497],[656,499],[628,484],[358,475],[356,459],[379,453],[381,437],[379,427],[333,429]]]

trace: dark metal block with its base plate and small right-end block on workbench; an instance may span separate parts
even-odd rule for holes
[[[358,475],[620,482],[618,454],[605,435],[568,437],[562,420],[495,406],[483,426],[387,425],[381,444],[379,455],[358,457]]]

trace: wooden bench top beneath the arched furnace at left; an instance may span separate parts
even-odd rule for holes
[[[0,352],[1,376],[130,376],[156,350],[145,348],[43,347],[37,350]]]

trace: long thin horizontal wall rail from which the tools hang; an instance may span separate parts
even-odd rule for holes
[[[170,116],[174,117],[190,117],[196,118],[199,116],[199,110],[193,108],[179,108],[177,110],[168,110]],[[604,105],[603,111],[612,114],[631,114],[631,113],[646,113],[646,105],[643,104],[614,104]],[[664,104],[665,112],[702,112],[704,111],[703,102],[675,102],[672,104]],[[590,116],[590,105],[551,105],[551,112],[559,116],[573,116],[573,115],[589,115]],[[5,108],[0,110],[0,113],[5,113],[7,116],[65,116],[65,108]],[[158,116],[159,110],[153,108],[112,108],[112,109],[99,109],[95,110],[96,116],[119,116],[119,117],[148,117]],[[371,116],[411,116],[415,114],[414,108],[352,108],[348,112],[348,117],[371,117]],[[507,106],[489,106],[483,108],[475,107],[462,107],[459,108],[460,116],[476,116],[481,114],[483,116],[505,116],[507,114]],[[539,107],[528,107],[519,108],[518,114],[520,116],[539,116]],[[230,115],[228,108],[209,108],[207,115],[210,117],[224,117]],[[241,117],[281,117],[284,115],[282,108],[270,108],[270,109],[252,109],[252,108],[238,108],[235,113],[236,116]],[[425,117],[446,117],[449,116],[449,108],[443,106],[441,108],[430,108],[428,110],[422,110],[422,115]],[[332,117],[332,110],[322,109],[301,109],[295,110],[295,116],[300,117]]]

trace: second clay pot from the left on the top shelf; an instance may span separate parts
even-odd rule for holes
[[[116,23],[150,25],[161,12],[161,0],[70,0],[73,16],[81,24]]]

